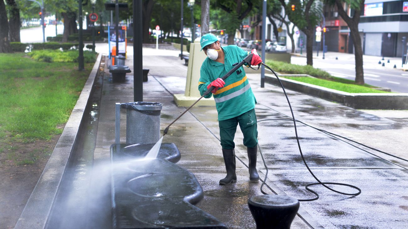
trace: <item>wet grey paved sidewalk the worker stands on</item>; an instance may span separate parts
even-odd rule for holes
[[[143,100],[163,104],[162,130],[184,110],[173,101],[183,94],[187,66],[179,51],[143,48],[143,67],[149,80],[143,83]],[[133,70],[133,55],[126,65]],[[132,74],[132,73],[130,73]],[[126,82],[113,83],[105,75],[94,154],[94,166],[109,161],[109,147],[115,142],[115,103],[133,101],[133,75]],[[298,199],[313,198],[304,188],[315,182],[304,166],[297,148],[290,110],[282,88],[259,86],[260,74],[248,74],[256,105],[259,147],[268,166],[263,190]],[[363,112],[323,99],[286,90],[295,118],[319,129],[347,137],[371,148],[408,159],[408,115],[404,111]],[[122,109],[121,142],[125,142],[125,110]],[[397,112],[397,113],[395,113]],[[274,119],[274,120],[271,120]],[[311,170],[322,182],[339,182],[361,188],[356,197],[312,186],[318,200],[301,202],[292,228],[404,228],[408,225],[408,161],[357,145],[297,123],[302,152]],[[343,141],[344,140],[344,141]],[[212,214],[230,228],[255,228],[247,201],[261,194],[259,183],[250,183],[248,157],[237,130],[237,183],[221,186],[225,176],[217,111],[215,107],[193,107],[169,129],[163,143],[175,143],[181,152],[181,167],[193,172],[204,189],[204,199],[196,206]],[[350,145],[351,144],[351,145]],[[258,154],[257,168],[262,179],[266,169]],[[354,189],[331,186],[341,192]],[[107,216],[109,217],[109,216]]]

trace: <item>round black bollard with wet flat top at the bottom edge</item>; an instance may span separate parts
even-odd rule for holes
[[[290,196],[259,195],[248,200],[257,229],[290,229],[299,210],[299,200]]]

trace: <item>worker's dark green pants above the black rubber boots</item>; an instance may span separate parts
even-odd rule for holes
[[[234,137],[237,131],[237,124],[244,134],[244,145],[253,148],[258,144],[257,121],[255,115],[255,108],[249,110],[237,117],[218,121],[220,126],[221,146],[223,149],[234,149]]]

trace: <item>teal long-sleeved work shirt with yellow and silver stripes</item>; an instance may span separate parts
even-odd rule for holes
[[[222,47],[222,50],[225,53],[225,64],[207,57],[201,66],[198,82],[198,90],[201,95],[204,95],[208,84],[224,76],[233,68],[233,64],[241,62],[248,55],[248,52],[236,45]],[[208,94],[205,98],[210,98],[212,95],[214,95],[217,107],[218,120],[231,119],[255,108],[256,99],[243,66],[225,80],[224,87],[219,88],[214,94]]]

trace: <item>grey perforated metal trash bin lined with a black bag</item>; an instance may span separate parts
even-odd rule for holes
[[[126,108],[126,144],[159,141],[161,103],[121,103],[120,108]]]

